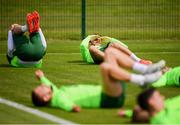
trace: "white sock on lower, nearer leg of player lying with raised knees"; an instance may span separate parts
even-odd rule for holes
[[[145,77],[143,75],[131,74],[130,81],[137,85],[144,85]]]

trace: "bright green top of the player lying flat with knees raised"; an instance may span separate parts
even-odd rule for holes
[[[41,83],[51,86],[53,96],[50,106],[72,111],[75,105],[85,108],[99,108],[102,88],[100,85],[61,86],[58,89],[46,77],[40,78]]]

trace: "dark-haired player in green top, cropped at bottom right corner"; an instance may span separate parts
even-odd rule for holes
[[[164,100],[154,88],[138,96],[140,107],[146,110],[152,124],[180,124],[180,96]]]

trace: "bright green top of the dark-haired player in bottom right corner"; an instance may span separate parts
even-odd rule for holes
[[[151,124],[180,124],[180,96],[165,101],[165,108],[153,116]]]

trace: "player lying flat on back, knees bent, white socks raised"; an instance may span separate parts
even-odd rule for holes
[[[107,49],[105,55],[110,51],[109,49]],[[110,57],[111,56],[107,58],[110,59]],[[125,100],[125,83],[123,81],[131,81],[138,85],[154,82],[161,77],[162,73],[159,70],[165,66],[164,61],[152,65],[143,65],[134,62],[124,53],[121,53],[120,58],[123,58],[123,61],[112,60],[114,65],[109,64],[108,61],[100,65],[103,77],[102,86],[73,85],[61,86],[61,88],[58,89],[44,76],[42,71],[36,71],[36,77],[42,84],[32,92],[33,103],[36,106],[49,105],[74,112],[79,112],[80,107],[118,108],[123,106]],[[130,74],[120,68],[119,65],[116,66],[115,62],[118,62],[122,67],[130,69],[134,67],[132,68],[133,70],[144,73],[144,75]],[[124,62],[126,62],[127,65]]]

